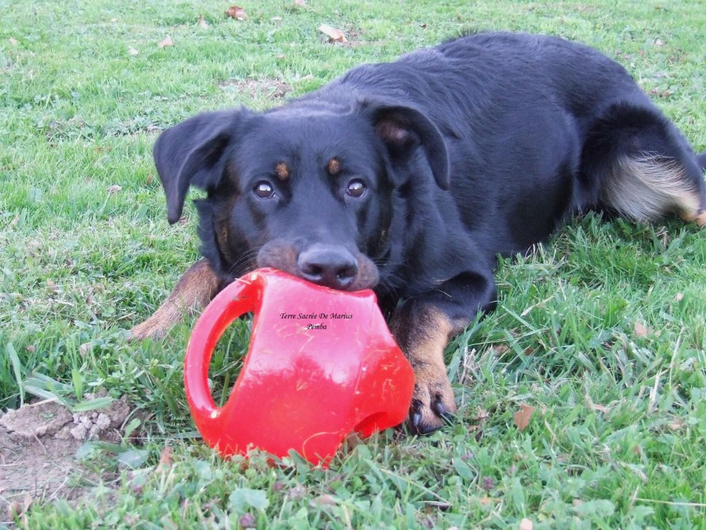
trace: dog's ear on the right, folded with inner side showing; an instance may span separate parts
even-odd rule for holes
[[[373,122],[393,162],[404,161],[421,147],[436,184],[448,189],[450,170],[446,144],[441,132],[424,113],[413,107],[381,101],[361,102],[361,110]]]

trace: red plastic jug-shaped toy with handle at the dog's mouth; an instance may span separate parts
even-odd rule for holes
[[[225,406],[208,388],[221,334],[253,312],[249,351]],[[371,290],[347,293],[260,269],[228,285],[194,326],[184,366],[186,397],[203,439],[224,457],[290,449],[327,464],[345,437],[402,423],[414,373]]]

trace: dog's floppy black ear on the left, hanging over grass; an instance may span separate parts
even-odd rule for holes
[[[160,134],[152,154],[167,196],[167,220],[181,218],[189,186],[213,189],[225,171],[227,146],[237,136],[245,110],[204,112]]]

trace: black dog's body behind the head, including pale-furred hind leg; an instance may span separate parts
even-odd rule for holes
[[[436,207],[449,223],[453,199],[488,254],[522,251],[590,209],[706,220],[704,160],[623,66],[585,45],[468,35],[359,66],[304,101],[381,96],[438,126],[455,193],[432,189]]]

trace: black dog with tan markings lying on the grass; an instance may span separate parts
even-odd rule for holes
[[[484,33],[359,66],[268,112],[199,114],[154,154],[170,223],[190,186],[208,192],[204,259],[133,336],[261,266],[374,288],[417,377],[417,432],[455,411],[443,350],[493,307],[496,254],[591,209],[706,224],[706,153],[622,66],[554,37]]]

